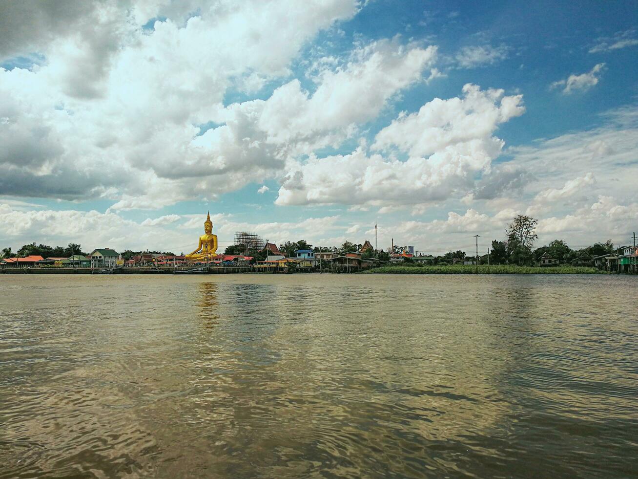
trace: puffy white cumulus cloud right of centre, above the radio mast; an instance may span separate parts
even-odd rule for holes
[[[397,149],[408,153],[408,160],[368,155],[364,146],[350,155],[313,155],[288,172],[276,203],[392,207],[465,194],[474,175],[500,154],[503,141],[492,133],[523,114],[521,101],[521,95],[468,84],[463,98],[436,98],[376,135],[373,150]]]

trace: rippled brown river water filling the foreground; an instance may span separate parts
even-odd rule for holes
[[[0,478],[636,477],[637,285],[0,275]]]

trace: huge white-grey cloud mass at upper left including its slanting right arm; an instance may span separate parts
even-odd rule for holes
[[[288,75],[302,44],[352,17],[358,4],[246,3],[188,19],[186,10],[167,11],[175,19],[156,21],[150,32],[140,22],[165,6],[138,7],[125,11],[133,27],[114,29],[119,43],[93,38],[110,53],[92,67],[99,72],[90,82],[69,84],[86,77],[68,70],[85,53],[79,37],[59,36],[45,50],[46,65],[32,71],[0,70],[0,95],[8,99],[0,105],[0,194],[103,197],[115,199],[119,210],[214,199],[278,176],[295,156],[338,146],[422,80],[436,57],[435,47],[398,38],[361,44],[346,63],[317,68],[313,91],[293,79],[267,100],[224,107],[229,88]],[[111,8],[103,21],[121,15]],[[247,22],[251,15],[263,21]],[[290,15],[295,22],[282,21]],[[211,44],[216,48],[205,47]],[[217,126],[199,134],[205,123]]]

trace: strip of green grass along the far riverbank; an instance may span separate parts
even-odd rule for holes
[[[446,274],[473,274],[476,266],[471,264],[441,264],[440,266],[381,266],[373,270],[362,271],[363,273],[383,273],[383,274],[420,274],[420,275],[446,275]],[[479,265],[479,274],[488,273],[487,264]],[[585,268],[582,266],[555,266],[552,268],[540,268],[539,266],[515,266],[513,264],[498,264],[489,266],[489,274],[492,275],[597,275],[605,274],[596,268]]]

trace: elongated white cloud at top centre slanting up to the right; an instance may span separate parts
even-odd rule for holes
[[[322,70],[313,95],[302,91],[299,80],[274,91],[258,120],[268,142],[313,146],[325,133],[352,129],[375,118],[393,95],[421,78],[424,68],[434,61],[436,48],[380,40],[355,50],[352,56],[353,61],[344,68]]]

